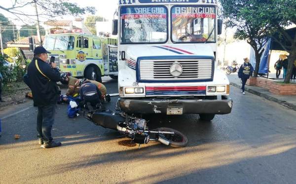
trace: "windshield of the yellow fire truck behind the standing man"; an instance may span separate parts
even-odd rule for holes
[[[44,48],[46,50],[73,50],[73,36],[45,37]]]

